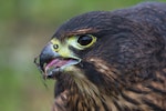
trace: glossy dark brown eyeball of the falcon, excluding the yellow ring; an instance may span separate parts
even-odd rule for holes
[[[93,41],[93,37],[92,36],[81,36],[77,39],[77,42],[81,46],[89,46],[92,41]]]

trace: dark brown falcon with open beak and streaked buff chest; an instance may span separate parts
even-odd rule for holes
[[[56,80],[53,111],[166,111],[166,3],[74,17],[35,63]]]

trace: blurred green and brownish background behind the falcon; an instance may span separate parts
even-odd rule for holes
[[[54,81],[44,87],[33,59],[65,20],[142,1],[0,0],[0,111],[51,111]]]

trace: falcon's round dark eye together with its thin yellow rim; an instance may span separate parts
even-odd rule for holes
[[[79,43],[80,46],[82,46],[82,47],[85,47],[85,46],[89,47],[89,46],[91,46],[92,43],[94,43],[95,40],[96,40],[96,38],[93,37],[93,36],[90,36],[90,34],[80,36],[80,37],[77,38],[77,43]]]

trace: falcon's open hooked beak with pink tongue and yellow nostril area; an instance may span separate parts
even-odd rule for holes
[[[65,68],[81,62],[81,59],[74,56],[70,56],[71,53],[69,53],[69,56],[63,57],[61,54],[63,52],[63,48],[61,51],[60,48],[59,50],[56,50],[58,48],[58,44],[49,42],[43,48],[40,56],[34,59],[34,63],[43,73],[44,79],[55,78],[56,75],[65,71]]]

